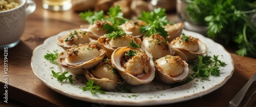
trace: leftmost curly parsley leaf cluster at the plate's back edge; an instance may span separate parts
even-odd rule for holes
[[[87,21],[89,24],[93,24],[95,22],[95,20],[101,20],[104,19],[104,12],[103,10],[99,11],[99,12],[92,12],[91,10],[86,11],[86,12],[81,12],[80,14],[80,18]]]

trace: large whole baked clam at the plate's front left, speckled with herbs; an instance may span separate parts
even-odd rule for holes
[[[105,51],[96,49],[95,45],[73,45],[58,55],[57,62],[73,74],[82,74],[83,70],[92,69],[104,58]]]

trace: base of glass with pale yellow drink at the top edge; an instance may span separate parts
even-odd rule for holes
[[[52,11],[66,11],[72,8],[71,0],[42,0],[42,7]]]

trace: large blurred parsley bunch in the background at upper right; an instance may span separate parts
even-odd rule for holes
[[[236,42],[241,56],[256,57],[256,2],[244,0],[185,0],[189,21],[207,26],[210,38],[222,38],[226,44]],[[193,15],[194,14],[194,15]]]

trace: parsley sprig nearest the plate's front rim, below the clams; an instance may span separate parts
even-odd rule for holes
[[[90,90],[92,95],[96,95],[97,93],[105,93],[104,91],[100,90],[100,87],[98,85],[93,85],[94,81],[92,79],[88,80],[85,87],[81,87],[83,91]]]

